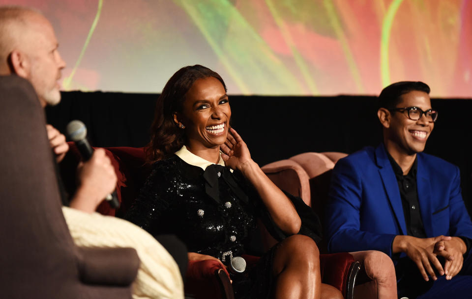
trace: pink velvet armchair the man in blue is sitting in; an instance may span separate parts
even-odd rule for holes
[[[305,152],[267,164],[262,170],[279,188],[303,199],[324,223],[324,204],[328,200],[331,170],[346,155],[341,152]],[[266,242],[271,241],[266,237]],[[326,244],[322,243],[320,252],[326,251]],[[395,269],[385,253],[375,250],[350,253],[361,265],[354,298],[397,298]]]

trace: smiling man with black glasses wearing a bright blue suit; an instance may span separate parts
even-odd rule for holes
[[[400,297],[472,298],[472,223],[459,169],[422,153],[438,117],[429,92],[410,81],[383,89],[377,112],[383,143],[334,167],[328,249],[388,254]]]

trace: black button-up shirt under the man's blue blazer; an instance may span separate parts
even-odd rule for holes
[[[421,218],[418,191],[416,188],[418,160],[415,159],[410,172],[408,172],[407,175],[403,175],[402,168],[397,164],[388,151],[387,156],[397,178],[398,189],[400,190],[400,197],[402,199],[403,214],[405,215],[405,223],[407,225],[407,234],[417,238],[427,238],[426,232],[424,231],[423,220]],[[461,238],[466,244],[466,253],[469,252],[472,246],[472,240],[461,236],[459,236],[459,238]]]

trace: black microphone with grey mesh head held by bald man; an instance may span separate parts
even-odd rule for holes
[[[84,161],[89,160],[92,157],[93,149],[90,147],[89,141],[87,141],[87,127],[81,121],[71,121],[65,128],[67,136],[72,140]],[[110,206],[114,209],[119,208],[119,201],[116,192],[108,194],[105,199],[108,201]]]

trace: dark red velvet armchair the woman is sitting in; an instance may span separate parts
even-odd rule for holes
[[[70,153],[61,163],[61,173],[66,187],[75,184],[74,170],[80,157],[75,146],[72,143],[69,143],[69,146]],[[105,148],[105,151],[118,176],[117,197],[121,205],[118,210],[114,210],[108,203],[103,202],[97,211],[105,215],[122,217],[148,177],[150,166],[145,164],[143,148],[115,147]],[[255,263],[258,260],[255,256],[245,256],[245,258],[248,263]],[[320,262],[323,282],[341,290],[345,298],[352,298],[354,280],[360,269],[359,262],[349,253],[322,254]],[[185,293],[192,297],[234,298],[228,272],[215,261],[190,261],[185,276]]]

